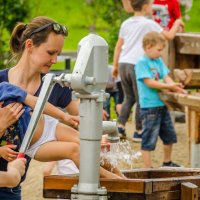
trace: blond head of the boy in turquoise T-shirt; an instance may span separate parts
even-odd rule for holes
[[[151,59],[159,58],[165,45],[166,40],[164,36],[155,31],[147,33],[143,38],[143,49],[145,54]]]

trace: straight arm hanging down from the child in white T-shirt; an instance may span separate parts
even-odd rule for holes
[[[122,38],[119,38],[115,46],[114,57],[113,57],[113,67],[114,67],[113,77],[115,78],[118,75],[118,61],[119,61],[119,55],[120,55],[123,43],[124,43],[124,40]]]

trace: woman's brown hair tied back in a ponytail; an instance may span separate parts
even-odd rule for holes
[[[40,46],[46,42],[47,37],[53,31],[53,26],[51,25],[53,23],[57,24],[53,19],[43,16],[34,18],[29,24],[18,22],[10,38],[10,50],[13,56],[18,58],[21,56],[25,48],[25,42],[29,38],[32,39],[35,46]],[[45,25],[47,26],[45,27]],[[36,31],[43,26],[45,27],[44,29]],[[66,36],[66,33],[61,31],[56,33]]]

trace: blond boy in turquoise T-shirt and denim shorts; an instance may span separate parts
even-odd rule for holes
[[[178,93],[186,93],[186,91],[181,83],[175,83],[169,77],[169,69],[161,59],[165,42],[161,34],[147,33],[143,39],[145,55],[135,66],[140,117],[143,124],[141,148],[145,167],[152,167],[151,151],[155,150],[158,136],[164,145],[162,166],[179,167],[171,161],[172,144],[177,142],[176,133],[169,111],[160,99],[158,92],[162,89]]]

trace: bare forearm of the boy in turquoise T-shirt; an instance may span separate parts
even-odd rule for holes
[[[169,76],[166,76],[165,78],[168,78]],[[175,82],[159,82],[157,80],[151,79],[151,78],[144,78],[144,82],[145,84],[150,87],[150,88],[154,88],[154,89],[169,89],[172,90],[174,92],[178,92],[178,93],[183,93],[186,94],[187,92],[183,89],[183,85],[181,83],[175,83]]]

